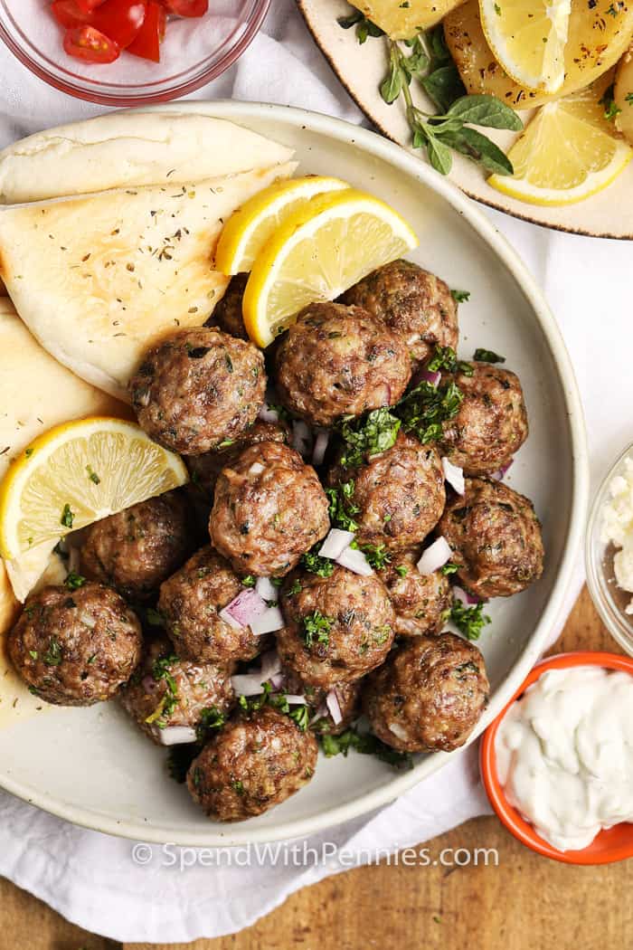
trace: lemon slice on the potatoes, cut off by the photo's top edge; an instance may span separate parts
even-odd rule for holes
[[[494,58],[515,83],[560,89],[571,0],[479,0],[479,11]]]

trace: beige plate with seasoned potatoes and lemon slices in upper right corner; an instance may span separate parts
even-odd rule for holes
[[[316,43],[367,118],[383,135],[425,161],[425,152],[413,148],[403,93],[392,104],[381,94],[391,70],[387,37],[366,35],[366,24],[361,24],[361,38],[366,35],[361,44],[358,25],[342,28],[339,20],[348,18],[349,23],[355,10],[346,0],[298,0],[298,6]],[[441,17],[467,91],[492,93],[520,109],[518,115],[527,129],[520,137],[516,131],[474,126],[475,132],[484,132],[510,155],[514,177],[493,175],[489,180],[489,172],[453,151],[450,178],[465,194],[550,228],[633,238],[633,57],[626,55],[633,43],[633,9],[629,5],[618,0],[595,4],[586,0],[443,0],[441,4],[365,0],[357,6],[399,40],[406,59],[419,47],[407,46],[403,38],[413,42],[418,28],[431,28]],[[423,47],[433,53],[428,39]],[[417,66],[414,56],[414,69]],[[618,66],[616,102],[611,104],[607,90]],[[424,65],[414,71],[409,90],[414,106],[435,114],[438,105],[420,82],[428,71]],[[587,88],[594,80],[596,84]],[[395,91],[392,84],[392,94]],[[605,92],[607,101],[601,103]]]

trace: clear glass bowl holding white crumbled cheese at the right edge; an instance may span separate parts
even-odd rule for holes
[[[622,474],[624,462],[633,458],[633,446],[624,449],[618,461],[609,470],[589,513],[586,529],[585,564],[589,594],[605,627],[627,654],[633,656],[633,615],[625,612],[633,595],[618,587],[613,571],[613,557],[618,548],[602,541],[603,506],[609,498],[611,480]]]

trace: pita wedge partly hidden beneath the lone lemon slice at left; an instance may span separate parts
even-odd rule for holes
[[[89,415],[128,417],[129,409],[84,383],[42,349],[7,298],[0,298],[0,481],[11,460],[32,440],[69,419]],[[62,565],[49,545],[28,552],[9,565],[0,559],[0,728],[43,708],[28,693],[5,656],[4,635],[15,619],[20,599],[40,580],[60,580]]]

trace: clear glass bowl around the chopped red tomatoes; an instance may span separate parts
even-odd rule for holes
[[[66,55],[47,0],[0,0],[0,38],[31,72],[78,99],[103,105],[165,103],[211,82],[249,46],[270,0],[222,0],[201,18],[170,19],[160,63],[124,50],[108,65]]]

